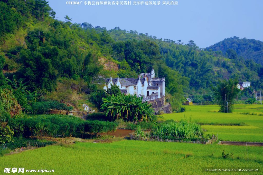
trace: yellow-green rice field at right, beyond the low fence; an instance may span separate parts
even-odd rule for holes
[[[220,140],[263,142],[263,105],[235,105],[229,114],[218,113],[218,105],[185,107],[184,113],[163,114],[162,119],[201,123],[205,133],[218,134]]]

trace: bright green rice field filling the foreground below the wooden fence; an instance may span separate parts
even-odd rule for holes
[[[234,158],[223,159],[223,150],[233,153]],[[54,169],[52,174],[200,174],[202,167],[262,169],[263,150],[261,147],[248,147],[246,152],[246,147],[242,146],[134,140],[78,142],[0,157],[0,162],[1,171],[5,167],[25,167]]]

